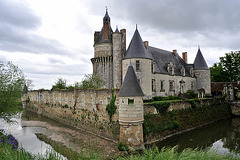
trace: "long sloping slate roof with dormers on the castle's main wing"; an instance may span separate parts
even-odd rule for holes
[[[173,52],[151,46],[147,48],[147,53],[155,62],[155,73],[169,74],[167,67],[169,62],[172,61],[174,65],[174,75],[182,75],[181,69],[184,67],[185,76],[191,76],[189,71],[192,65],[186,64],[178,54],[175,55]]]

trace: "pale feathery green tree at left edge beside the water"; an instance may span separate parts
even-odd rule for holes
[[[24,74],[12,62],[0,62],[0,114],[15,111],[24,87]]]

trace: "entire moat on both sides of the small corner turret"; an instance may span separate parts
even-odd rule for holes
[[[77,152],[87,151],[91,147],[106,156],[119,154],[116,143],[31,112],[21,112],[13,120],[14,123],[7,123],[1,119],[0,128],[16,137],[21,146],[30,153],[44,154],[47,149],[54,149],[68,157],[69,149]],[[159,148],[178,145],[179,151],[185,148],[201,148],[216,150],[221,154],[231,152],[239,156],[240,118],[220,120],[155,145]]]

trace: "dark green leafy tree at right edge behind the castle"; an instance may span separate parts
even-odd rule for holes
[[[219,63],[210,67],[212,82],[236,82],[240,80],[240,51],[231,51],[220,57]]]

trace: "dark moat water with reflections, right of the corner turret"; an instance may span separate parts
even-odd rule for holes
[[[240,119],[228,118],[201,128],[179,134],[155,143],[162,147],[178,145],[179,151],[185,148],[216,150],[218,153],[240,155]]]

